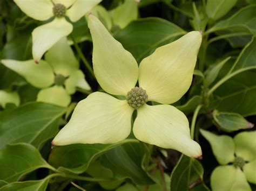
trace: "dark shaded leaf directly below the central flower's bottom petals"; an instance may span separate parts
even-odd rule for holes
[[[118,180],[130,178],[139,185],[151,185],[154,181],[142,168],[143,157],[139,143],[126,143],[104,153],[100,161]]]

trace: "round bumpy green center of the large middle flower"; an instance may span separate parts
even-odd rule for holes
[[[147,97],[147,93],[144,89],[135,87],[127,93],[126,101],[132,108],[138,109],[147,102]]]

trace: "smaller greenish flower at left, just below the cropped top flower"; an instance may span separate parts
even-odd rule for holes
[[[79,70],[79,63],[66,37],[53,45],[45,54],[45,61],[35,65],[33,60],[1,60],[3,65],[23,76],[32,86],[41,88],[37,101],[53,103],[66,107],[71,102],[71,96],[76,87],[90,90]],[[64,88],[65,86],[65,88]]]

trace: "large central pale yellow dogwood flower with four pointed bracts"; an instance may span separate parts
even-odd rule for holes
[[[129,136],[132,114],[137,110],[133,124],[137,139],[200,157],[200,145],[190,137],[186,116],[168,104],[178,101],[191,85],[201,34],[189,32],[157,48],[138,67],[132,54],[95,16],[90,15],[88,24],[96,79],[107,93],[126,96],[126,100],[101,92],[90,94],[77,104],[69,123],[52,144],[120,142]],[[161,104],[149,105],[147,101]]]

